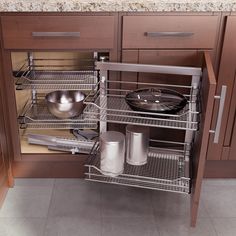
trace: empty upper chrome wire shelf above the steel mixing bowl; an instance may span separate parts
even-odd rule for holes
[[[30,70],[16,81],[16,89],[87,91],[92,90],[97,82],[97,71]]]

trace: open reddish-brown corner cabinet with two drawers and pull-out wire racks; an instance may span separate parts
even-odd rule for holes
[[[53,67],[54,72],[55,68],[61,68],[61,66],[68,69],[71,65],[61,64],[67,61],[67,53],[70,56],[71,53],[72,55],[74,53],[82,55],[82,57],[75,56],[75,61],[78,64],[84,57],[86,60],[101,59],[101,62],[96,64],[98,66],[96,69],[99,69],[99,76],[97,76],[96,70],[94,70],[95,74],[92,75],[92,78],[99,79],[99,85],[97,86],[95,83],[86,84],[92,85],[92,87],[84,89],[89,93],[85,102],[87,106],[84,110],[84,114],[87,115],[86,119],[94,121],[95,124],[99,122],[100,132],[107,129],[107,122],[155,127],[158,128],[158,132],[156,132],[156,129],[152,129],[152,137],[161,139],[160,141],[167,141],[165,145],[168,144],[172,148],[178,146],[175,150],[177,155],[174,156],[179,161],[177,167],[175,164],[177,168],[175,169],[175,176],[183,173],[180,176],[181,181],[179,178],[173,179],[173,173],[169,174],[172,179],[167,178],[163,182],[162,179],[157,178],[159,176],[157,175],[154,178],[154,189],[191,193],[191,224],[194,226],[197,219],[215,100],[216,79],[212,62],[214,63],[217,57],[219,15],[122,16],[122,14],[114,13],[93,14],[93,16],[90,14],[81,14],[81,16],[75,16],[75,14],[66,16],[60,14],[51,16],[22,14],[16,16],[13,14],[2,16],[1,21],[2,56],[4,58],[2,62],[4,68],[3,84],[6,88],[4,95],[7,98],[4,102],[7,104],[6,116],[10,124],[8,136],[11,140],[13,175],[15,177],[84,176],[84,164],[88,161],[87,155],[62,154],[58,151],[51,152],[45,149],[39,151],[36,147],[32,147],[29,151],[29,149],[24,148],[27,142],[25,142],[25,139],[21,139],[21,132],[22,129],[27,130],[27,128],[34,127],[34,129],[37,129],[36,133],[46,130],[46,134],[51,134],[52,130],[55,132],[55,126],[56,129],[68,131],[73,129],[73,125],[81,125],[81,123],[76,123],[77,120],[69,120],[68,123],[67,121],[62,122],[50,118],[46,122],[47,128],[45,127],[45,116],[42,117],[44,113],[40,112],[39,109],[39,105],[43,104],[43,99],[40,100],[40,98],[44,97],[47,91],[55,90],[55,87],[67,89],[68,85],[74,85],[71,82],[80,80],[76,77],[76,79],[69,79],[61,83],[57,76],[57,83],[55,84],[52,74],[50,76],[47,74],[46,82],[49,81],[50,83],[45,83],[43,78],[37,77],[37,73],[41,73],[40,69],[35,70],[35,68]],[[50,24],[45,24],[48,21],[50,21]],[[33,22],[35,22],[35,25]],[[137,24],[137,22],[140,24]],[[163,24],[164,22],[165,24]],[[102,29],[103,24],[106,26],[105,32],[105,27]],[[136,27],[137,25],[140,25],[140,27]],[[166,28],[167,25],[168,28]],[[123,26],[123,31],[121,26]],[[19,41],[15,40],[16,35],[19,35]],[[17,57],[20,54],[23,55],[26,68],[20,67],[19,72],[15,73],[13,62],[18,60]],[[53,58],[51,58],[51,54],[53,54]],[[61,55],[62,58],[60,58]],[[122,63],[114,63],[119,61],[120,56]],[[105,62],[107,58],[114,64]],[[71,57],[69,59],[71,61]],[[126,62],[135,64],[130,65]],[[57,64],[55,65],[55,63]],[[152,69],[152,66],[145,64],[159,64],[160,67],[157,66]],[[73,64],[72,67],[75,65]],[[189,66],[193,68],[187,68]],[[160,68],[164,68],[164,73]],[[118,71],[121,71],[121,81],[117,77],[119,75]],[[153,75],[154,71],[158,73],[158,76]],[[176,71],[178,73],[175,73]],[[65,80],[66,73],[68,71],[63,71],[64,77],[62,80]],[[19,75],[19,78],[13,79],[13,74]],[[95,75],[97,77],[94,77]],[[107,81],[107,78],[109,78],[109,81]],[[106,83],[115,84],[115,86],[106,86]],[[122,101],[124,101],[123,98],[114,105],[110,102],[113,100],[108,98],[112,97],[112,92],[115,92],[113,98],[117,101],[122,93],[122,91],[116,90],[117,87],[132,90],[145,83],[146,85],[165,83],[166,87],[172,86],[180,92],[186,93],[188,91],[189,102],[186,111],[183,114],[170,116],[171,118],[153,118],[153,115],[148,117],[146,114],[144,114],[145,116],[133,114],[132,111],[127,111],[129,109],[127,106],[127,109],[120,107]],[[85,84],[82,83],[82,85]],[[76,88],[78,89],[78,87]],[[43,90],[43,92],[39,93],[37,90]],[[91,91],[89,92],[89,90]],[[99,97],[100,92],[102,98]],[[25,97],[30,99],[29,108],[32,108],[31,110],[28,109],[27,103],[26,106],[20,104]],[[105,103],[103,103],[104,98]],[[199,100],[201,100],[201,113],[199,112]],[[40,101],[42,103],[38,103]],[[106,107],[101,107],[101,104],[105,104]],[[23,113],[20,112],[22,108],[24,108]],[[27,109],[25,110],[25,108]],[[32,112],[33,117],[29,115]],[[48,117],[48,114],[46,115]],[[83,121],[87,121],[86,119]],[[41,126],[42,120],[43,128]],[[62,128],[62,125],[64,128]],[[109,128],[111,129],[111,126]],[[164,131],[160,131],[161,129]],[[167,130],[168,132],[166,132]],[[54,133],[54,135],[57,136],[57,133]],[[24,137],[24,134],[22,137]],[[173,137],[175,140],[173,140]],[[170,142],[168,142],[169,139],[171,139]],[[193,148],[191,149],[190,146],[193,146]],[[173,157],[173,151],[168,150],[168,152],[171,153],[165,153],[166,155],[164,155],[164,161],[167,164],[169,163],[169,155]],[[160,156],[162,157],[159,153],[157,157],[160,158]],[[165,168],[168,167],[167,164],[164,165]],[[89,170],[86,170],[85,174],[89,180],[96,181],[96,178],[100,178],[100,182],[114,183],[113,181],[116,181],[115,183],[129,185],[129,183],[125,183],[126,179],[121,178],[123,182],[117,182],[120,177],[107,179],[106,176],[101,176],[101,173],[93,173],[92,169],[96,169],[96,166],[93,164],[87,165]],[[169,166],[172,166],[172,164]],[[158,172],[159,170],[156,168],[155,171]],[[96,178],[93,179],[92,177]],[[137,179],[135,174],[131,174],[132,186],[138,187],[137,182],[139,182],[142,183],[139,187],[152,189],[145,176],[141,177]]]

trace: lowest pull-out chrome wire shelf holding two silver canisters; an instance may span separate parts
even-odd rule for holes
[[[173,145],[173,142],[171,143]],[[100,170],[99,145],[90,154],[86,180],[126,185],[153,190],[190,193],[189,152],[190,145],[182,144],[182,150],[150,147],[148,162],[143,166],[125,163],[123,174],[117,177],[103,175]]]

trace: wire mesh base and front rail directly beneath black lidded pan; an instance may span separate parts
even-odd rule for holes
[[[197,130],[198,112],[194,111],[193,107],[196,107],[196,104],[188,103],[176,115],[156,115],[154,113],[133,111],[126,103],[124,96],[108,95],[107,99],[101,99],[98,96],[94,103],[88,102],[84,114],[88,115],[88,119],[95,121]]]

